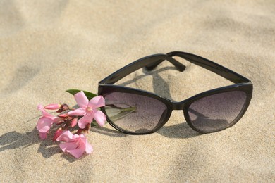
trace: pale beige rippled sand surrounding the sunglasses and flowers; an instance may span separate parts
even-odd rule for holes
[[[275,2],[0,1],[0,182],[275,182]],[[37,104],[75,104],[66,89],[97,83],[138,58],[185,51],[252,80],[247,113],[233,127],[198,134],[173,111],[158,132],[110,125],[87,135],[75,159],[35,128]],[[182,101],[231,84],[180,60],[119,84]],[[51,137],[49,135],[49,137]]]

